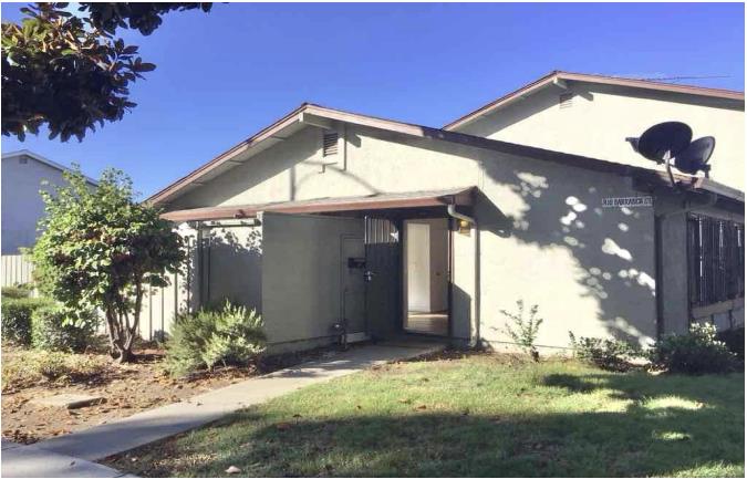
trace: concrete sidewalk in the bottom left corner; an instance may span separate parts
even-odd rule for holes
[[[2,439],[2,477],[136,477],[100,464]]]

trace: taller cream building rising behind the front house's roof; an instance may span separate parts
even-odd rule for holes
[[[710,178],[744,191],[741,92],[554,71],[444,129],[650,168],[620,138],[673,119],[717,138]]]

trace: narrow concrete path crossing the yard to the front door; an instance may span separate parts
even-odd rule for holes
[[[390,342],[353,347],[325,360],[281,369],[221,389],[193,396],[127,418],[58,436],[35,447],[86,460],[100,460],[214,421],[310,384],[345,376],[377,364],[418,357],[443,350],[427,342]],[[3,460],[4,470],[4,460]]]

